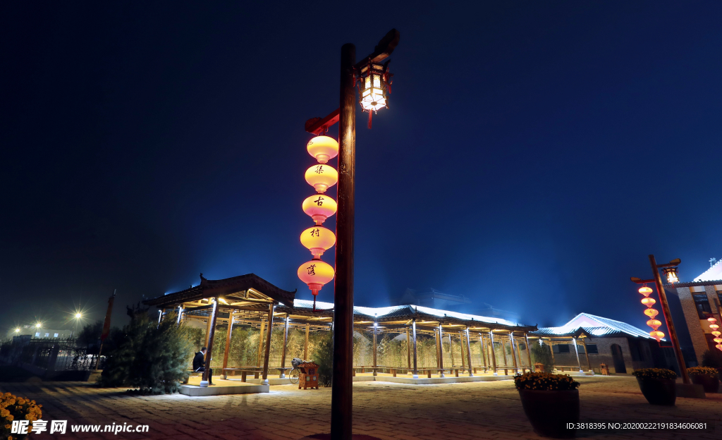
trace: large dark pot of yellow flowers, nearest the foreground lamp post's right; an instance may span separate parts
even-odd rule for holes
[[[570,439],[579,421],[579,382],[567,374],[526,373],[514,378],[521,406],[534,432],[554,439]]]

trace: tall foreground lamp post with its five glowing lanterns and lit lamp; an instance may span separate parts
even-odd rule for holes
[[[336,277],[334,280],[334,368],[331,386],[331,439],[352,439],[352,395],[353,395],[353,308],[354,308],[354,203],[356,173],[356,88],[359,90],[359,103],[363,111],[369,113],[368,126],[371,128],[372,112],[388,107],[388,92],[391,74],[388,72],[388,56],[399,44],[399,31],[389,31],[374,48],[373,53],[360,62],[356,62],[356,46],[344,44],[341,48],[341,87],[339,108],[324,118],[310,118],[305,130],[316,135],[308,142],[308,152],[318,163],[324,165],[338,155],[336,169],[308,168],[306,181],[316,189],[316,196],[303,202],[303,211],[321,226],[329,215],[336,214]],[[385,64],[381,64],[386,60]],[[339,142],[334,150],[334,142],[326,136],[329,127],[339,123]],[[318,169],[318,173],[316,170]],[[323,176],[321,176],[323,174]],[[326,195],[326,191],[336,185],[338,204]],[[319,197],[328,197],[326,202]],[[323,202],[319,204],[317,202]],[[328,207],[333,212],[323,211]],[[305,231],[304,231],[305,232]],[[329,231],[330,232],[330,231]],[[325,234],[325,236],[324,236]],[[325,237],[325,238],[324,238]],[[318,236],[309,236],[302,240],[314,255],[313,269],[326,270],[317,255],[321,249],[326,251],[330,236],[320,228]],[[315,284],[307,282],[308,267],[311,262],[298,269],[299,277],[313,291]],[[321,264],[323,263],[323,264]],[[329,266],[330,267],[330,266]],[[303,269],[303,271],[301,270]],[[326,273],[326,272],[323,272]],[[328,275],[328,274],[327,274]],[[329,282],[333,277],[329,278]],[[314,297],[315,298],[315,297]]]

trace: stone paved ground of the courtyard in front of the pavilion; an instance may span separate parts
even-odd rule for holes
[[[580,378],[583,421],[706,421],[713,431],[578,433],[588,439],[722,439],[722,394],[649,405],[632,377]],[[73,382],[0,384],[43,404],[44,420],[149,425],[149,433],[40,434],[37,439],[300,439],[328,432],[331,389],[271,387],[269,394],[139,397]],[[355,433],[380,439],[541,439],[523,415],[512,381],[409,385],[357,382]]]

